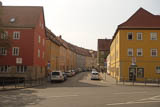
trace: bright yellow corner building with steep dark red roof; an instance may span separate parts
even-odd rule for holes
[[[140,8],[118,26],[110,46],[110,71],[118,80],[160,79],[160,16]]]

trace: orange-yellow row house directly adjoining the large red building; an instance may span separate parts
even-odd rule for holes
[[[46,28],[47,38],[46,38],[46,65],[48,71],[59,70],[59,56],[60,56],[60,46],[61,44],[56,39],[55,34],[53,34],[49,29]]]

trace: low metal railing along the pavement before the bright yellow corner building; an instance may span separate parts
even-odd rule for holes
[[[116,80],[116,84],[120,85],[133,85],[133,86],[156,86],[160,87],[160,78],[143,78],[141,80],[120,78],[120,81]]]

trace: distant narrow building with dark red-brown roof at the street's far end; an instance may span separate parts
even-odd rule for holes
[[[106,58],[110,52],[111,39],[98,39],[97,65],[100,70],[106,71]]]

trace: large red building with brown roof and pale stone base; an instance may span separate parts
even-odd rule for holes
[[[45,20],[43,7],[0,6],[0,39],[11,37],[12,47],[0,47],[0,78],[39,79],[45,76]]]

